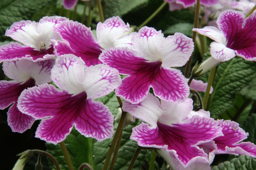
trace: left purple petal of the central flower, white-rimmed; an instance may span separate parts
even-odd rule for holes
[[[112,68],[118,69],[120,74],[133,75],[137,70],[145,65],[146,60],[138,57],[138,54],[124,47],[108,48],[104,50],[99,60]]]

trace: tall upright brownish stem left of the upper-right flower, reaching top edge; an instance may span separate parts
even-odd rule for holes
[[[196,0],[196,11],[195,11],[195,22],[194,22],[194,28],[198,28],[198,22],[199,22],[199,13],[200,13],[200,0]],[[193,42],[195,44],[195,38],[196,38],[196,32],[193,32]],[[193,54],[190,56],[187,64],[186,64],[186,69],[185,69],[185,77],[188,78],[189,77],[189,71],[190,71],[190,65],[191,65],[191,61],[192,61],[192,56]]]

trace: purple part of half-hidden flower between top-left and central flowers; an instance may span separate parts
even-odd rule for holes
[[[58,24],[55,27],[55,31],[61,34],[61,40],[67,41],[70,45],[70,48],[73,49],[71,54],[76,55],[77,57],[81,57],[87,66],[100,64],[101,62],[98,60],[98,56],[101,53],[101,47],[96,42],[96,38],[91,32],[90,28],[87,28],[85,25],[73,22],[73,21],[64,21]],[[62,45],[63,46],[63,45]],[[56,45],[56,49],[58,50],[58,45]],[[62,47],[59,48],[63,49]],[[57,54],[67,54],[68,50],[63,52],[57,51]],[[89,64],[92,61],[92,64],[88,65],[86,62],[89,60]]]

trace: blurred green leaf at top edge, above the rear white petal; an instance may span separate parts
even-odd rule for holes
[[[148,0],[106,0],[105,18],[120,16],[145,6]]]

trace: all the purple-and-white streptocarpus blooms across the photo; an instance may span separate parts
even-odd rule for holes
[[[195,0],[169,2],[188,7]],[[215,3],[202,0],[204,5]],[[246,18],[242,12],[223,11],[217,24],[219,29],[193,29],[215,41],[210,53],[217,62],[210,65],[235,56],[256,60],[256,14]],[[256,145],[242,142],[248,134],[236,122],[194,110],[190,89],[205,91],[206,84],[193,80],[189,86],[177,69],[194,51],[191,38],[182,33],[164,37],[147,26],[131,32],[118,16],[98,23],[96,34],[58,16],[20,21],[7,29],[6,36],[22,43],[0,46],[3,71],[13,79],[0,81],[0,109],[12,105],[7,115],[13,132],[23,133],[42,120],[36,137],[49,143],[63,141],[73,126],[98,141],[110,138],[114,116],[95,99],[115,90],[125,100],[122,110],[143,121],[133,128],[131,139],[159,149],[175,169],[210,169],[215,154],[256,157]],[[208,64],[200,67],[200,74],[209,69]]]

